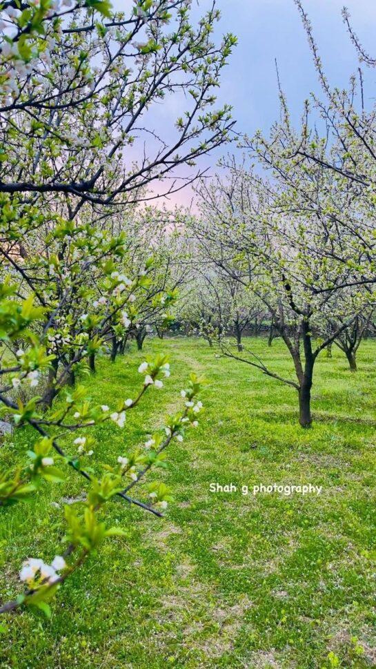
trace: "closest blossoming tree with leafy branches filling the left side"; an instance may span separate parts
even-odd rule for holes
[[[191,375],[182,411],[93,473],[90,428],[112,421],[122,429],[128,411],[162,387],[169,362],[147,359],[137,396],[112,407],[92,405],[73,384],[114,330],[136,327],[143,300],[161,302],[154,261],[129,271],[127,231],[114,233],[112,218],[177,191],[200,171],[181,180],[175,169],[195,167],[228,140],[230,108],[215,109],[215,90],[235,38],[216,45],[219,12],[213,5],[193,26],[189,0],[136,0],[128,12],[114,12],[107,0],[4,0],[0,18],[0,337],[7,351],[0,402],[16,427],[37,434],[27,462],[2,468],[0,506],[11,512],[42,480],[57,483],[68,472],[88,486],[78,510],[66,507],[66,550],[47,562],[26,560],[23,592],[0,606],[1,613],[30,607],[49,615],[60,585],[107,536],[121,534],[103,518],[112,498],[161,515],[171,499],[164,483],[152,483],[146,501],[130,492],[161,464],[171,440],[197,425],[200,382]],[[148,110],[181,92],[181,116],[157,135]]]

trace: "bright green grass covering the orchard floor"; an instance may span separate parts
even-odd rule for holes
[[[252,345],[278,371],[291,370],[281,342]],[[321,354],[308,430],[297,425],[294,389],[215,358],[204,342],[147,340],[146,351],[170,353],[172,376],[123,431],[95,429],[93,466],[113,462],[124,441],[144,440],[179,406],[188,372],[204,373],[199,428],[170,447],[158,474],[175,503],[164,519],[110,503],[108,522],[130,538],[108,540],[63,585],[50,621],[28,611],[3,616],[0,666],[315,669],[337,666],[337,657],[338,666],[375,667],[376,343],[359,350],[357,374],[339,351]],[[143,359],[101,360],[86,381],[93,400],[132,396]],[[29,437],[19,431],[2,459],[19,458]],[[248,485],[250,494],[212,494],[213,482]],[[274,482],[313,483],[322,493],[253,496],[253,485]],[[2,512],[0,601],[19,592],[23,559],[60,552],[62,500],[84,485],[70,472]]]

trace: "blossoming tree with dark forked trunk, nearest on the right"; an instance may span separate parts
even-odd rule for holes
[[[312,191],[315,188],[312,186]],[[295,388],[299,398],[299,423],[312,423],[310,391],[319,353],[352,324],[357,311],[348,312],[337,300],[353,270],[336,259],[330,262],[326,246],[342,244],[332,228],[330,240],[322,235],[314,216],[293,209],[293,189],[273,184],[234,162],[228,180],[219,177],[201,187],[202,216],[196,233],[210,253],[213,265],[248,287],[270,313],[293,361],[294,378],[281,377],[255,354],[232,352],[226,338],[219,338],[226,356],[242,360],[263,374]],[[288,200],[288,206],[286,205]],[[234,258],[237,259],[235,271]],[[357,304],[358,311],[362,303]],[[337,326],[326,323],[337,314]],[[314,336],[315,335],[315,336]]]

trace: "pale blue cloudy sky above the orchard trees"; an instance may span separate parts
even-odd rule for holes
[[[212,0],[194,0],[192,12],[199,17]],[[357,70],[355,49],[342,21],[344,0],[303,0],[313,24],[326,75],[333,86],[346,86],[350,75]],[[115,6],[123,1],[115,0]],[[347,0],[355,32],[362,43],[376,56],[376,0]],[[277,59],[281,85],[286,93],[290,113],[299,124],[304,100],[310,93],[319,92],[317,73],[313,66],[306,34],[293,0],[217,0],[221,21],[217,33],[233,32],[238,44],[221,77],[219,104],[233,106],[237,130],[253,135],[259,128],[268,131],[279,116]],[[373,99],[375,72],[366,78],[365,99]],[[149,123],[156,129],[171,127],[179,115],[179,101],[170,99],[152,110]],[[201,160],[200,166],[215,173],[221,155],[232,148],[221,147]],[[156,187],[157,191],[158,188]],[[189,204],[192,189],[170,197],[168,206]]]

